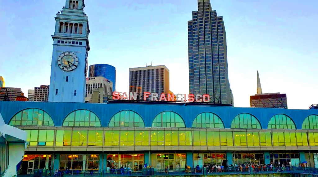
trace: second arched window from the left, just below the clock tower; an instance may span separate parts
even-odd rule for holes
[[[100,119],[92,111],[79,109],[66,116],[63,127],[100,127]]]

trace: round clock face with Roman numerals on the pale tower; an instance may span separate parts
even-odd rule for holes
[[[63,52],[58,56],[58,66],[64,71],[73,71],[79,64],[79,58],[73,52]]]

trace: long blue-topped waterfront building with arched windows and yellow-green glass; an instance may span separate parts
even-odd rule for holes
[[[63,109],[61,109],[63,108]],[[57,111],[59,110],[59,111]],[[204,103],[0,102],[27,132],[18,169],[182,169],[250,163],[318,166],[318,110]]]

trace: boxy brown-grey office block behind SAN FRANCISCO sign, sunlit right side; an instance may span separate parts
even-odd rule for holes
[[[129,68],[129,92],[171,93],[169,69],[164,65]]]

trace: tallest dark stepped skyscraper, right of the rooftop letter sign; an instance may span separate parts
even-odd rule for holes
[[[233,105],[228,79],[226,33],[223,17],[209,0],[198,0],[198,10],[188,21],[189,91],[214,95]]]

